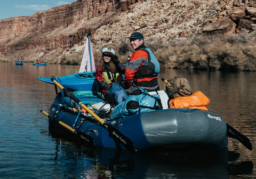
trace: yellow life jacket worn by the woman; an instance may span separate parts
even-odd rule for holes
[[[114,73],[112,73],[109,69],[109,66],[107,64],[104,65],[104,71],[102,72],[103,82],[110,85],[113,82],[122,82],[123,76],[119,74],[117,70],[115,70]]]

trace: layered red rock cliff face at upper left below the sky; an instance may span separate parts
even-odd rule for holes
[[[135,0],[78,0],[31,17],[3,19],[0,52],[10,60],[34,61],[50,51],[82,42],[85,30],[93,32],[133,3]]]

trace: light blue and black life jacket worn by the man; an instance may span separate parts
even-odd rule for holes
[[[146,51],[148,54],[148,65],[139,67],[136,72],[137,78],[153,78],[160,72],[160,64],[156,59],[156,55],[150,50],[150,48],[140,48],[140,50]]]

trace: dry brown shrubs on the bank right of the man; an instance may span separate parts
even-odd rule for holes
[[[255,47],[255,38],[249,36],[200,35],[175,40],[169,47],[158,48],[156,54],[167,68],[256,71]]]

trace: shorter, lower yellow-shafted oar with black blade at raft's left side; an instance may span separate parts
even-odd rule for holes
[[[81,139],[83,142],[85,142],[86,144],[89,145],[89,147],[94,147],[94,140],[93,137],[91,137],[90,135],[87,135],[81,131],[76,131],[75,129],[71,128],[70,126],[68,126],[67,124],[63,123],[62,121],[60,121],[59,119],[57,119],[55,116],[49,115],[49,113],[41,110],[41,112],[49,117],[49,119],[56,121],[57,123],[59,123],[61,126],[67,128],[69,131],[73,132],[74,134],[76,134],[79,139]]]

